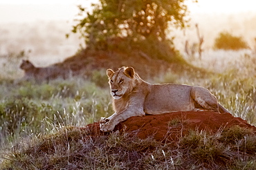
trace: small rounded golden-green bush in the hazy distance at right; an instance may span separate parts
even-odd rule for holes
[[[236,37],[228,32],[220,32],[214,41],[214,48],[223,50],[240,50],[248,48],[242,37]]]

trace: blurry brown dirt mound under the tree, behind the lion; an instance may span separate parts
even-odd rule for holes
[[[136,61],[136,62],[135,62]],[[163,59],[154,59],[140,50],[133,49],[130,54],[118,49],[108,50],[91,50],[86,48],[73,57],[69,57],[64,62],[55,64],[63,70],[69,70],[73,75],[84,75],[90,77],[92,70],[106,70],[111,68],[117,70],[122,66],[133,66],[136,72],[143,77],[152,77],[166,70],[176,70],[177,73],[185,69],[192,69],[182,60],[182,62],[166,62]],[[196,70],[199,70],[198,68]]]

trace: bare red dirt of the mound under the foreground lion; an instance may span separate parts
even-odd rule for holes
[[[145,139],[153,137],[158,141],[173,142],[187,134],[190,130],[208,131],[216,133],[230,126],[241,126],[253,129],[245,120],[233,117],[230,113],[214,112],[173,112],[163,115],[146,115],[144,117],[130,117],[116,126],[114,131],[125,131]],[[86,126],[89,135],[107,135],[100,131],[98,122]]]

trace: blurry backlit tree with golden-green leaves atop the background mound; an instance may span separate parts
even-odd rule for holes
[[[73,32],[80,32],[86,45],[93,48],[106,48],[116,38],[129,44],[150,41],[172,45],[166,39],[167,28],[184,28],[187,23],[185,0],[100,0],[92,7],[89,12],[79,6],[81,18]]]

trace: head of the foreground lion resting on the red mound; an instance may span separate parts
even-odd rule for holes
[[[116,72],[111,69],[107,70],[109,77],[109,86],[113,99],[119,100],[125,95],[129,95],[136,86],[138,75],[132,67],[122,67]]]

